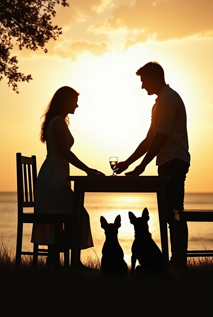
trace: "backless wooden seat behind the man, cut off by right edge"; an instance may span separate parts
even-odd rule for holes
[[[177,236],[177,222],[191,221],[191,222],[213,222],[213,210],[205,209],[184,209],[184,210],[173,210],[175,213],[174,220],[174,249],[176,245]],[[175,251],[175,250],[174,250]],[[187,250],[187,257],[199,257],[199,256],[213,256],[213,250]],[[175,265],[175,257],[174,257]]]

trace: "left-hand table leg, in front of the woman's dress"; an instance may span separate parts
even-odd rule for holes
[[[80,216],[81,216],[81,191],[78,184],[74,184],[74,214],[73,214],[73,225],[72,225],[72,249],[70,267],[76,268],[78,260],[78,248],[79,248],[79,227],[80,227]]]

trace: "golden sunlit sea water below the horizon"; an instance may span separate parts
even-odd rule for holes
[[[85,208],[90,215],[94,248],[82,250],[81,256],[95,257],[95,253],[101,256],[105,235],[104,230],[100,227],[100,216],[104,216],[108,223],[112,223],[115,217],[120,215],[121,227],[118,238],[124,251],[124,258],[129,261],[134,240],[134,228],[129,222],[128,211],[132,211],[137,217],[140,217],[145,207],[148,208],[150,214],[149,230],[161,249],[156,193],[86,193]],[[185,209],[213,209],[213,193],[186,193],[184,207]],[[188,249],[203,249],[203,246],[213,249],[213,223],[188,223],[188,227]],[[16,249],[16,230],[16,193],[0,193],[0,233],[3,236],[3,243],[8,249]],[[30,243],[31,231],[32,224],[24,224],[23,250],[33,249],[33,244]]]

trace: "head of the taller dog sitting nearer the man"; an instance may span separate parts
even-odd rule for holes
[[[129,211],[130,223],[134,225],[135,233],[147,233],[149,232],[148,220],[149,211],[144,208],[141,217],[136,217],[131,211]]]

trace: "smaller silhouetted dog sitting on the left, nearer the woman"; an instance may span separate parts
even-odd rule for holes
[[[101,271],[103,274],[127,274],[128,267],[124,261],[124,252],[118,242],[118,228],[121,226],[118,215],[114,223],[107,223],[100,217],[101,228],[105,230],[106,240],[102,249]]]

